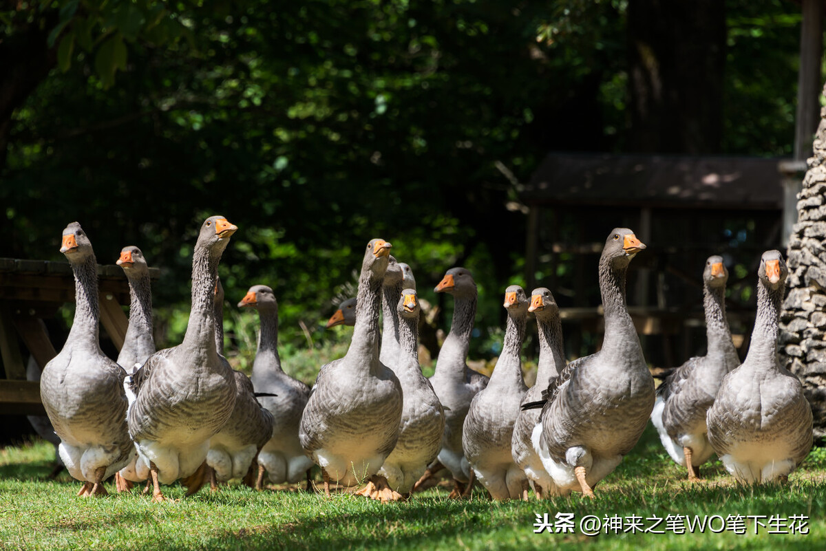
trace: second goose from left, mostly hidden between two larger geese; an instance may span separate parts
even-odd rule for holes
[[[121,266],[129,283],[129,327],[126,329],[121,353],[117,356],[117,364],[126,371],[123,387],[131,406],[135,402],[135,393],[131,390],[132,375],[155,351],[150,271],[144,253],[134,245],[121,249],[116,264]],[[149,465],[135,454],[126,467],[115,473],[117,491],[129,491],[132,483],[145,482],[149,474]]]

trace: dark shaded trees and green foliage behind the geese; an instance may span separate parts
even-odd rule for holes
[[[249,365],[256,321],[235,304],[263,283],[285,366],[307,382],[346,349],[349,332],[324,322],[354,293],[370,238],[413,267],[431,332],[452,308],[434,285],[472,270],[471,356],[489,361],[501,293],[527,281],[520,191],[548,152],[784,157],[794,142],[801,16],[786,0],[56,0],[4,2],[0,18],[0,257],[64,260],[73,220],[100,263],[137,245],[162,271],[156,341],[169,346],[197,228],[224,214],[240,228],[220,269],[230,360]],[[599,242],[626,218],[602,208],[583,235],[563,217],[550,238]],[[648,262],[675,231],[664,218]],[[740,308],[765,229],[733,218],[698,243],[730,252]],[[565,254],[533,275],[565,289],[582,277]],[[700,288],[686,289],[699,312]],[[56,346],[71,315],[50,323]],[[566,343],[574,357],[597,339]]]

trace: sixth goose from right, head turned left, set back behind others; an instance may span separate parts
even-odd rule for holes
[[[468,368],[467,361],[476,317],[477,288],[470,271],[456,267],[445,273],[435,291],[452,294],[455,302],[450,332],[444,338],[436,359],[436,370],[430,377],[430,384],[444,407],[444,436],[437,462],[428,467],[414,490],[444,465],[453,474],[454,488],[450,497],[462,497],[470,492],[474,477],[462,449],[462,426],[473,397],[487,386],[488,381],[485,375]]]

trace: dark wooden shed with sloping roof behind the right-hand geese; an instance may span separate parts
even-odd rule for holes
[[[779,159],[549,153],[520,199],[528,206],[526,279],[563,307],[569,357],[599,345],[597,261],[605,238],[627,227],[648,246],[632,262],[628,302],[657,367],[705,351],[700,276],[723,255],[729,322],[748,346],[763,251],[781,248]]]

